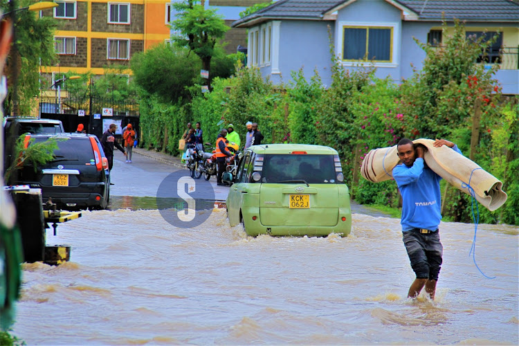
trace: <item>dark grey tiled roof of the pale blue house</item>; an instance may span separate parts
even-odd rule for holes
[[[356,0],[280,0],[262,10],[234,21],[233,27],[246,28],[271,19],[331,19],[327,17]],[[412,20],[519,22],[519,3],[513,0],[385,0],[409,11]]]

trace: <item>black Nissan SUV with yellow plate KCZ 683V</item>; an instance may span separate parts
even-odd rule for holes
[[[106,209],[110,197],[108,161],[96,136],[89,134],[27,134],[26,145],[56,138],[59,149],[54,160],[35,169],[31,165],[20,170],[12,185],[41,188],[44,203],[52,202],[62,209]]]

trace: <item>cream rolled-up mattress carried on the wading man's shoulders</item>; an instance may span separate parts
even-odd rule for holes
[[[475,199],[488,210],[497,210],[507,201],[502,182],[469,158],[446,145],[433,146],[432,139],[420,138],[413,143],[427,147],[424,161],[432,171],[466,194],[470,195],[472,188]],[[400,163],[397,153],[397,145],[370,150],[361,165],[362,176],[374,183],[393,179],[393,168]]]

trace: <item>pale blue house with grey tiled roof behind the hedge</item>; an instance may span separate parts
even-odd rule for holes
[[[498,64],[504,94],[519,94],[519,3],[511,0],[280,0],[239,19],[248,28],[248,66],[278,84],[291,71],[318,71],[331,82],[331,53],[347,69],[374,65],[395,82],[421,69],[425,52],[415,42],[441,44],[442,16],[450,27],[464,22],[466,35],[498,35],[480,63]],[[486,33],[485,33],[486,31]]]

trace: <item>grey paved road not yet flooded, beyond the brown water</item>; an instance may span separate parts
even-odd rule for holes
[[[155,150],[134,148],[132,163],[125,163],[125,156],[121,152],[115,154],[111,170],[111,181],[114,185],[110,188],[110,210],[156,209],[156,195],[161,182],[172,172],[188,172],[179,157]],[[218,186],[216,176],[211,176],[209,182],[215,190],[215,199],[225,201],[228,186]],[[351,203],[353,213],[389,217],[388,214],[362,206],[355,201]]]

